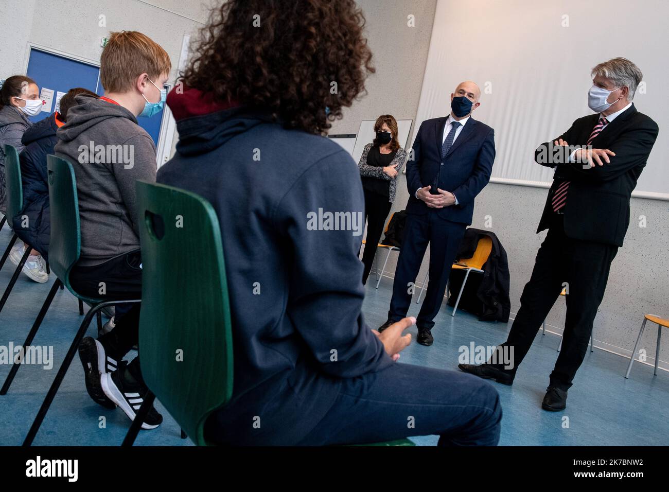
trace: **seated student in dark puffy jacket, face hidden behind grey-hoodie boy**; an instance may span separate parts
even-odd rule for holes
[[[18,264],[25,251],[24,244],[32,246],[29,260],[33,256],[46,259],[49,251],[49,236],[51,232],[49,215],[49,185],[47,183],[46,157],[54,153],[54,146],[58,142],[56,130],[65,125],[67,112],[70,106],[76,104],[74,96],[89,94],[97,97],[94,92],[81,87],[70,89],[60,100],[60,111],[54,112],[30,127],[21,138],[25,146],[19,154],[21,161],[21,181],[23,182],[23,211],[13,218],[12,226],[20,241],[12,250],[11,260]],[[24,244],[21,244],[23,241]],[[23,272],[35,279],[39,272],[29,268],[29,261],[23,266]],[[46,272],[43,276],[48,279]],[[36,280],[40,281],[40,280]]]

